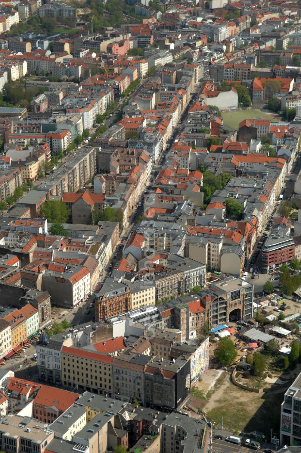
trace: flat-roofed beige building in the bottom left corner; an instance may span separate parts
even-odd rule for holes
[[[0,448],[6,452],[44,453],[53,438],[52,429],[31,417],[8,414],[0,420]]]

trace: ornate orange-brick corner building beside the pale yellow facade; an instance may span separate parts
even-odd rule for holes
[[[131,310],[132,299],[129,285],[106,279],[95,298],[95,320],[103,321],[110,316]]]

